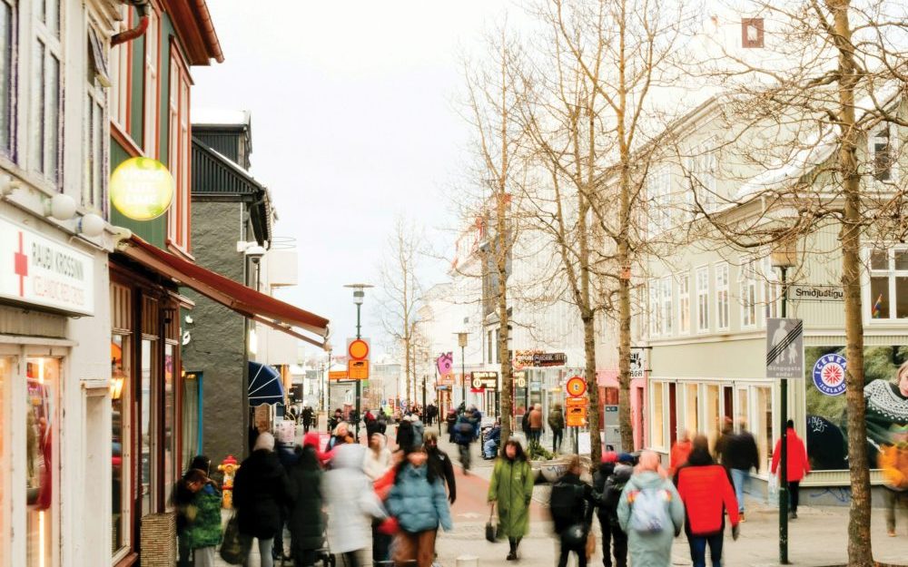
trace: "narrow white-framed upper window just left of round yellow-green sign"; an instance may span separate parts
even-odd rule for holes
[[[84,182],[82,204],[89,209],[104,210],[104,195],[107,186],[107,135],[106,98],[103,82],[106,79],[104,54],[99,36],[91,24],[88,27],[88,71],[85,77],[85,115],[83,124]],[[100,59],[100,61],[99,61]],[[108,80],[109,82],[109,80]]]

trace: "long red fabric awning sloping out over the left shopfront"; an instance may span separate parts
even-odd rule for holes
[[[232,308],[248,318],[300,338],[316,347],[324,347],[328,337],[328,319],[296,308],[239,282],[224,278],[163,249],[133,236],[123,240],[118,250],[144,267],[174,279],[180,285],[192,288],[206,298],[224,307]],[[297,332],[299,327],[316,335],[318,339]]]

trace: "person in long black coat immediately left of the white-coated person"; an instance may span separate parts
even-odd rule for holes
[[[325,518],[321,512],[321,467],[312,445],[296,446],[297,463],[288,473],[291,555],[295,567],[315,564],[324,543]]]

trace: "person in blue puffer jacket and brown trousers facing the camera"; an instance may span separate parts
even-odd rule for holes
[[[394,562],[431,567],[439,526],[446,532],[454,526],[441,471],[429,464],[425,448],[414,447],[400,462],[385,505],[400,525]]]

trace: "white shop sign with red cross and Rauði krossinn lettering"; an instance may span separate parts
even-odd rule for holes
[[[94,315],[93,259],[0,219],[0,298]]]

